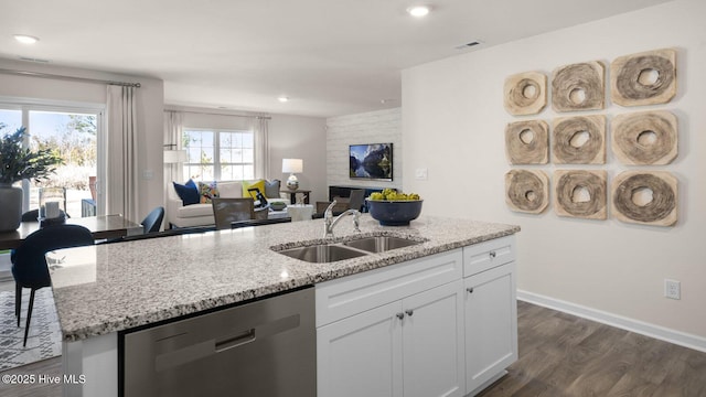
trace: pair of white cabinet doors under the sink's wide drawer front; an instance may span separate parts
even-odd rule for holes
[[[463,396],[461,280],[321,326],[319,396]]]

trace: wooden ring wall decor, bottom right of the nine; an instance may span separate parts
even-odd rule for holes
[[[672,226],[677,221],[677,179],[668,172],[622,172],[612,182],[613,214],[622,222]],[[651,200],[637,202],[640,191],[651,192]]]

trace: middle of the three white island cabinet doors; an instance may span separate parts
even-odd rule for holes
[[[403,310],[405,397],[463,396],[463,281],[405,298]]]

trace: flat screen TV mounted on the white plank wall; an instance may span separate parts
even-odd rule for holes
[[[351,179],[393,180],[393,144],[351,144]]]

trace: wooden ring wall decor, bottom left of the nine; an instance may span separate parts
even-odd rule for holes
[[[510,170],[505,174],[505,202],[512,211],[541,214],[549,204],[549,178],[538,170]]]

